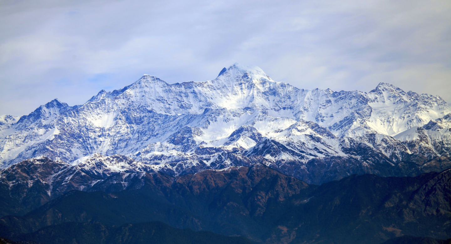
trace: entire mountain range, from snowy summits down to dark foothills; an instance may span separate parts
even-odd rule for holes
[[[438,96],[303,90],[238,63],[205,82],[144,75],[82,105],[0,116],[0,237],[445,243],[450,154]]]

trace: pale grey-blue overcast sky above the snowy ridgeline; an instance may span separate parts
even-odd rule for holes
[[[449,0],[0,0],[0,114],[235,62],[304,89],[383,81],[451,102],[450,13]]]

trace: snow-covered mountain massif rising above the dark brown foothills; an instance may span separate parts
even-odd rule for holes
[[[410,175],[450,156],[450,112],[438,96],[386,83],[368,93],[303,90],[235,63],[211,81],[144,75],[82,105],[55,99],[27,116],[2,116],[0,163],[46,156],[78,165],[120,154],[173,175],[253,163],[314,183]]]

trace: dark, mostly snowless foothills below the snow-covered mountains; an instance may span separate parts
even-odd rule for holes
[[[2,217],[0,236],[42,244],[64,238],[80,244],[149,238],[183,243],[176,237],[220,243],[215,238],[226,237],[219,235],[243,236],[230,237],[232,243],[379,244],[399,236],[451,236],[451,170],[354,175],[320,186],[263,165],[176,177],[139,174],[129,176],[126,189],[115,186],[123,176],[109,177],[90,191],[70,190],[23,216]]]

